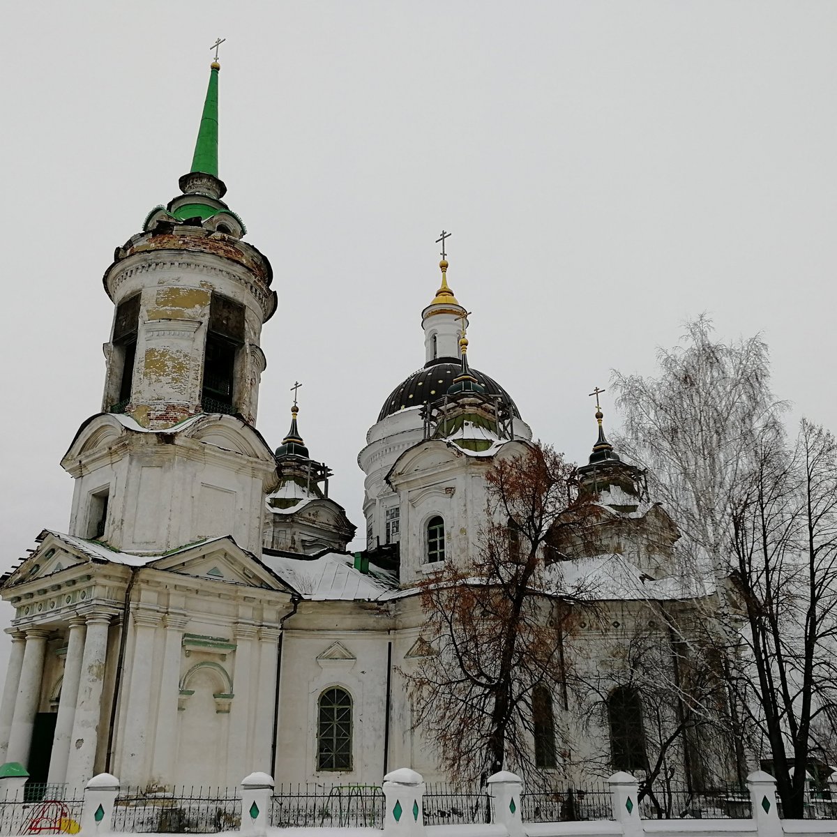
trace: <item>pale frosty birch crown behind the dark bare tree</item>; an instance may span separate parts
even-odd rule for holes
[[[686,323],[660,349],[659,377],[614,372],[624,413],[619,448],[647,470],[650,494],[677,521],[682,557],[726,572],[732,501],[756,439],[785,408],[770,392],[768,347],[756,335],[713,340],[711,320]]]

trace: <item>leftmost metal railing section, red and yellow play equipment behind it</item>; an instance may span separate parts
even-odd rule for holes
[[[28,783],[22,798],[0,797],[0,834],[77,834],[83,803],[64,785]]]

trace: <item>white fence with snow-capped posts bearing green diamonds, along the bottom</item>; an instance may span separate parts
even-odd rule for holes
[[[306,798],[302,793],[296,797],[277,795],[273,779],[266,773],[251,773],[239,788],[223,788],[223,793],[216,789],[185,796],[150,792],[137,795],[120,788],[115,776],[102,773],[90,780],[83,798],[54,794],[41,801],[27,797],[26,779],[25,774],[0,779],[0,834],[88,837],[117,831],[165,830],[264,837],[268,829],[279,830],[299,821],[283,810],[283,800]],[[614,773],[608,779],[608,813],[612,819],[570,822],[525,822],[523,783],[514,773],[496,773],[488,780],[486,804],[481,810],[485,814],[482,819],[490,819],[490,823],[476,818],[470,824],[425,824],[425,815],[433,809],[433,794],[425,795],[424,779],[408,768],[388,773],[383,788],[371,790],[374,793],[316,798],[316,825],[328,826],[331,831],[345,828],[347,835],[358,832],[357,828],[346,828],[349,824],[365,826],[370,834],[380,834],[383,829],[383,837],[837,837],[837,819],[779,819],[776,782],[761,771],[747,777],[751,816],[741,819],[643,819],[637,780],[629,773]],[[360,821],[356,817],[350,823],[334,814],[357,814],[354,809],[362,812]],[[311,819],[303,821],[308,824]],[[318,829],[294,830],[316,837]]]

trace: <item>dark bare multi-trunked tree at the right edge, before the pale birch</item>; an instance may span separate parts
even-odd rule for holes
[[[767,742],[784,815],[799,817],[815,733],[837,704],[837,445],[803,420],[793,448],[773,439],[755,453],[732,502],[746,630],[731,685]]]

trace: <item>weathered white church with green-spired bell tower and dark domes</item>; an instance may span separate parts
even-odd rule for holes
[[[426,653],[415,585],[475,556],[485,475],[532,432],[506,389],[470,367],[443,255],[421,312],[424,366],[370,416],[357,459],[366,548],[347,552],[356,526],[329,496],[296,401],[278,447],[257,429],[260,336],[282,312],[269,259],[224,202],[219,71],[216,59],[180,193],[105,270],[102,401],[61,460],[74,480],[68,531],[41,531],[3,578],[15,616],[0,764],[71,787],[103,772],[147,788],[254,771],[277,783],[377,784],[401,767],[443,779],[402,674]],[[675,525],[598,418],[579,478],[606,518],[602,598],[623,614],[635,587],[682,600]],[[653,548],[630,547],[637,526]],[[606,634],[579,641],[596,648]]]

